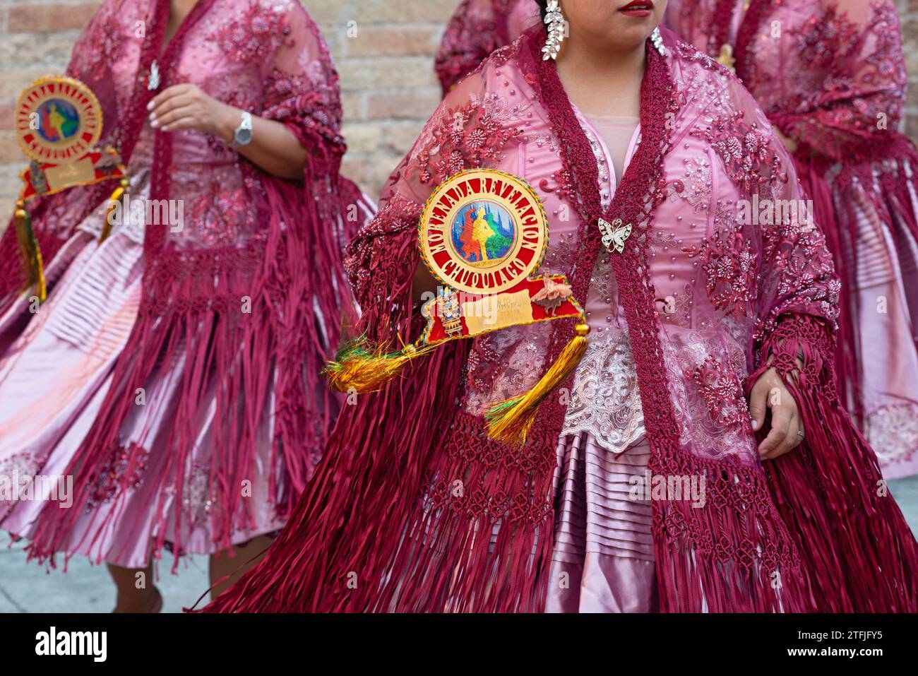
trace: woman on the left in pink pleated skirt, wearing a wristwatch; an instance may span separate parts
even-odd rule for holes
[[[73,480],[0,501],[0,525],[32,558],[105,561],[116,610],[156,610],[136,580],[164,547],[174,568],[212,555],[216,582],[296,504],[337,410],[319,371],[365,210],[338,175],[337,73],[295,0],[106,0],[68,74],[102,104],[129,202],[102,242],[110,184],[30,205],[37,313],[14,228],[0,244],[0,474]]]

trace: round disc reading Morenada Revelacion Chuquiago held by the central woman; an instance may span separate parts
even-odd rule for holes
[[[431,272],[460,291],[515,287],[542,265],[548,223],[528,183],[493,169],[444,181],[420,219],[420,252]]]

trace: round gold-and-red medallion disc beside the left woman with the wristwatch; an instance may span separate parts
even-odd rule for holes
[[[16,137],[29,157],[66,164],[95,149],[102,108],[92,90],[70,77],[43,77],[19,95]]]

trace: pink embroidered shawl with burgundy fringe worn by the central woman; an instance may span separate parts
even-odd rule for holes
[[[895,502],[877,495],[876,458],[834,390],[838,282],[823,235],[797,218],[738,216],[738,200],[798,199],[793,165],[738,81],[664,36],[666,57],[648,42],[641,141],[611,198],[634,224],[611,265],[650,468],[707,483],[701,508],[654,501],[661,606],[913,610],[914,539]],[[608,188],[608,173],[554,63],[542,61],[543,42],[543,28],[532,29],[453,89],[353,242],[347,267],[376,341],[417,334],[421,206],[462,169],[494,167],[536,186],[551,228],[544,269],[566,273],[579,298],[595,286],[599,231],[585,196]],[[573,333],[572,321],[552,324],[445,346],[344,411],[284,532],[208,610],[542,610],[565,406],[546,400],[528,445],[513,449],[487,440],[477,402],[498,383],[515,394],[541,375]],[[792,377],[799,354],[806,366]],[[763,466],[744,386],[768,355],[807,440]]]

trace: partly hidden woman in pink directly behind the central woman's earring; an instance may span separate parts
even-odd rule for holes
[[[541,21],[534,0],[462,0],[443,32],[434,69],[443,96],[492,51]]]

